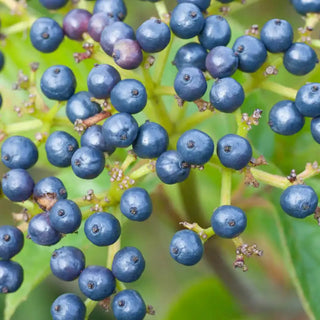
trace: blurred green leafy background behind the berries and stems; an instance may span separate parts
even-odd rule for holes
[[[6,0],[2,0],[5,2]],[[125,0],[128,8],[126,23],[136,29],[142,21],[150,16],[157,16],[154,4],[146,1]],[[212,3],[215,2],[212,0]],[[176,1],[166,1],[172,9]],[[88,2],[92,7],[93,2]],[[50,16],[59,23],[62,22],[65,10],[48,12],[37,0],[28,1],[30,16]],[[218,8],[218,6],[217,6]],[[215,11],[218,13],[218,9]],[[21,22],[21,17],[11,16],[10,11],[0,2],[0,18],[2,28]],[[292,8],[289,0],[247,0],[247,3],[231,5],[227,19],[232,27],[232,46],[234,39],[243,35],[253,24],[260,27],[272,18],[288,20],[298,39],[298,27],[304,26],[304,19]],[[318,38],[319,30],[312,33]],[[191,40],[189,40],[191,41]],[[163,84],[173,84],[176,69],[171,65],[176,50],[187,40],[175,40],[168,63],[165,67]],[[16,82],[19,70],[26,74],[29,64],[40,63],[38,83],[41,73],[54,64],[65,64],[76,74],[77,91],[86,90],[86,77],[95,63],[94,60],[76,64],[74,52],[81,52],[81,44],[65,39],[59,50],[51,54],[37,52],[30,43],[28,31],[11,34],[0,42],[6,58],[6,65],[0,74],[0,91],[4,98],[3,110],[0,114],[5,123],[21,121],[13,112],[14,106],[19,106],[27,98],[23,91],[13,91],[12,84]],[[319,52],[318,52],[319,54]],[[275,59],[275,56],[271,56]],[[240,72],[235,77],[245,84],[246,78]],[[298,89],[310,81],[319,81],[319,67],[304,77],[290,75],[283,67],[279,74],[270,78],[283,85]],[[208,91],[210,89],[208,83]],[[206,94],[208,97],[208,92]],[[249,139],[255,148],[255,156],[263,154],[269,166],[262,169],[273,173],[288,175],[291,169],[303,171],[306,162],[319,159],[319,145],[310,134],[310,119],[306,119],[304,129],[292,137],[275,135],[268,127],[268,110],[283,97],[257,88],[250,92],[241,108],[242,112],[251,114],[255,108],[263,109],[263,117],[259,126],[253,127]],[[176,114],[177,105],[173,98],[165,99],[170,113]],[[46,100],[49,106],[52,102]],[[185,117],[197,112],[194,105],[188,104]],[[23,119],[28,119],[28,116]],[[145,116],[141,115],[138,122],[143,123]],[[179,124],[183,123],[182,118]],[[216,142],[227,133],[235,133],[236,125],[233,115],[214,113],[208,117],[198,129],[210,134]],[[65,128],[72,130],[72,127]],[[34,132],[28,133],[33,136]],[[178,136],[171,137],[171,145],[175,145]],[[112,159],[123,160],[125,152],[117,151]],[[6,168],[0,168],[1,174]],[[35,181],[48,175],[56,175],[66,185],[69,197],[78,197],[93,188],[96,192],[106,190],[109,178],[106,173],[94,181],[84,181],[76,178],[71,169],[57,171],[46,160],[44,147],[40,147],[40,161],[30,170]],[[196,217],[196,222],[203,227],[210,224],[210,217],[220,200],[219,170],[207,165],[203,171],[192,172],[190,178],[179,186],[164,186],[152,175],[140,185],[146,187],[152,195],[154,212],[144,223],[128,222],[123,229],[122,245],[137,246],[143,253],[147,266],[142,277],[129,288],[138,290],[147,304],[154,307],[156,314],[147,319],[163,320],[302,320],[320,319],[318,304],[318,288],[320,277],[318,265],[320,255],[320,230],[312,217],[297,221],[284,216],[279,209],[281,190],[275,190],[261,185],[258,189],[245,187],[242,176],[235,173],[233,178],[232,203],[244,209],[248,215],[248,228],[243,234],[245,242],[256,243],[264,250],[260,258],[247,258],[249,271],[243,273],[234,270],[235,259],[232,241],[218,238],[210,239],[205,244],[203,260],[193,267],[178,265],[169,255],[168,247],[172,235],[180,229],[179,221]],[[319,178],[308,180],[308,184],[320,194]],[[0,223],[13,223],[11,212],[20,212],[21,208],[0,200]],[[193,222],[188,220],[189,222]],[[31,241],[26,241],[25,248],[14,260],[23,261],[25,283],[20,291],[8,296],[8,308],[12,309],[14,320],[45,320],[50,319],[50,306],[53,300],[64,292],[74,292],[83,299],[79,292],[77,281],[63,282],[49,274],[51,252],[60,246],[76,244],[81,247],[87,259],[87,265],[105,265],[107,248],[98,248],[85,239],[82,229],[78,234],[65,237],[57,245],[46,248],[39,247]],[[48,276],[47,276],[48,275]],[[39,282],[25,296],[26,286],[31,286],[28,279]],[[31,289],[31,287],[30,287]],[[27,289],[26,289],[27,290]],[[16,308],[16,306],[18,306]],[[16,310],[15,310],[16,308]],[[0,296],[0,319],[4,318],[5,296]],[[15,310],[15,312],[14,312]],[[92,320],[114,319],[111,312],[97,307],[90,316]]]

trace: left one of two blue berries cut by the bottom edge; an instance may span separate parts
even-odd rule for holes
[[[65,293],[53,301],[51,316],[53,320],[84,320],[86,306],[75,294]]]

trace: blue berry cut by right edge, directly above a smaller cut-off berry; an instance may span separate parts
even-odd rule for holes
[[[313,82],[302,86],[298,90],[295,105],[305,117],[320,116],[320,84]]]

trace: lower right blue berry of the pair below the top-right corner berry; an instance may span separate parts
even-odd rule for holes
[[[312,71],[318,63],[316,52],[306,43],[294,43],[284,54],[283,64],[292,74],[303,76]]]

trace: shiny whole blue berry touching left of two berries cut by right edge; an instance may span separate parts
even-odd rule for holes
[[[269,112],[270,128],[278,134],[295,134],[302,129],[304,122],[303,115],[290,100],[279,101]]]

